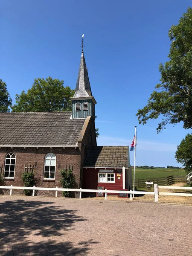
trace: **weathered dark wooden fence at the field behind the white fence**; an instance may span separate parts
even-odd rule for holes
[[[159,177],[159,178],[149,178],[149,179],[143,179],[143,180],[135,180],[135,186],[137,188],[143,188],[146,186],[146,181],[153,181],[153,183],[156,183],[158,185],[172,185],[179,182],[186,182],[185,176],[179,176],[179,175],[171,175],[167,177]]]

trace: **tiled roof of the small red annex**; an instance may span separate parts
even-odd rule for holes
[[[127,146],[91,147],[84,166],[129,167]]]

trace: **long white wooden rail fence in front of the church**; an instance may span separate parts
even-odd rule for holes
[[[48,191],[55,191],[55,197],[58,196],[58,191],[71,191],[71,192],[79,192],[79,198],[81,199],[82,192],[102,192],[105,193],[105,200],[107,200],[107,194],[130,194],[130,200],[132,201],[132,195],[154,195],[154,201],[158,202],[158,195],[179,195],[179,196],[192,196],[189,193],[170,193],[170,192],[158,192],[159,189],[180,189],[180,190],[192,190],[192,187],[180,187],[180,186],[158,186],[154,184],[154,191],[153,192],[146,192],[146,191],[127,191],[127,190],[100,190],[100,189],[63,189],[63,188],[40,188],[40,187],[21,187],[21,186],[0,186],[0,189],[10,189],[10,195],[12,195],[13,189],[27,189],[32,190],[32,196],[35,196],[35,190],[48,190]]]

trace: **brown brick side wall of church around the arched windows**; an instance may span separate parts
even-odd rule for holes
[[[81,151],[79,148],[0,148],[0,165],[5,165],[5,157],[8,153],[14,153],[16,156],[15,178],[13,180],[4,179],[6,186],[23,186],[22,173],[24,165],[34,165],[35,178],[37,179],[36,186],[38,187],[56,187],[61,188],[59,179],[61,178],[60,169],[63,166],[73,166],[73,174],[76,176],[76,188],[79,188],[80,183],[80,166],[81,166]],[[56,156],[55,180],[44,180],[44,158],[47,153],[53,153]],[[6,193],[7,190],[1,191]],[[12,195],[24,195],[23,190],[12,190]],[[55,196],[54,191],[36,191],[36,195]],[[58,196],[62,196],[62,192],[58,192]]]

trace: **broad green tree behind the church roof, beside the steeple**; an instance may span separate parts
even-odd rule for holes
[[[71,100],[74,90],[64,87],[64,81],[38,78],[34,80],[31,89],[20,95],[16,94],[16,104],[13,105],[13,112],[50,112],[50,111],[71,111]]]

